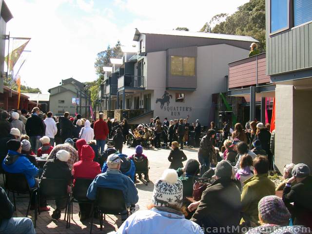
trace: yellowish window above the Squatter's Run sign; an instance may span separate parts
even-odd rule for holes
[[[171,76],[195,76],[195,57],[171,56]]]

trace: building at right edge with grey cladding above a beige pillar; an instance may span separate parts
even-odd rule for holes
[[[312,168],[312,1],[266,0],[266,73],[275,88],[275,164]]]

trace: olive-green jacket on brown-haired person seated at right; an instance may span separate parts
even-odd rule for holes
[[[243,182],[241,195],[242,213],[245,221],[259,223],[258,203],[262,197],[275,195],[275,184],[268,174],[255,175]]]

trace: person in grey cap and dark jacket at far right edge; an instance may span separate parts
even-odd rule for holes
[[[298,163],[292,169],[292,177],[288,179],[283,190],[283,201],[286,206],[293,202],[292,215],[295,225],[312,228],[312,177],[308,165]],[[292,182],[297,183],[292,186]]]

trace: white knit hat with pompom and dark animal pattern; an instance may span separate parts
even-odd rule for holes
[[[177,178],[176,170],[166,169],[155,183],[152,203],[156,206],[182,206],[183,184]]]

